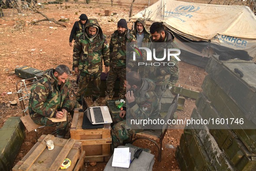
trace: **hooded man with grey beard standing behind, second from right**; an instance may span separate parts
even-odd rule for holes
[[[150,48],[151,39],[150,33],[146,30],[146,23],[144,19],[137,19],[134,23],[134,30],[132,34],[136,37],[138,47],[146,47]],[[146,61],[146,51],[144,49],[140,49],[142,52],[142,56],[137,58],[137,62],[145,62]],[[145,77],[145,66],[139,66],[138,68],[139,74],[141,77]]]

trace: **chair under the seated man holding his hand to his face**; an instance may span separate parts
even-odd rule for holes
[[[178,107],[178,97],[179,97],[179,94],[177,94],[172,100],[172,104],[169,107],[169,110],[166,116],[164,117],[165,123],[167,123],[168,119],[173,118],[173,115]],[[162,129],[145,129],[143,132],[139,132],[135,134],[135,139],[132,141],[132,144],[138,139],[147,139],[153,142],[158,148],[158,161],[161,161],[162,160],[162,141],[165,137],[165,133],[167,132],[168,128],[169,128],[169,124],[163,124]],[[136,135],[140,135],[142,137],[136,138]],[[160,147],[154,139],[159,139]]]

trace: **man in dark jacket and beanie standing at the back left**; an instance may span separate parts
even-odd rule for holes
[[[74,23],[74,26],[71,30],[71,33],[70,33],[70,36],[69,36],[69,46],[72,46],[72,40],[76,39],[78,34],[81,33],[81,32],[84,32],[84,28],[86,26],[86,23],[88,21],[88,18],[86,16],[86,14],[81,14],[79,16],[79,21],[76,21]]]

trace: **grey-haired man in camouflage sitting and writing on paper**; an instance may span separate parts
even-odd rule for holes
[[[69,74],[66,65],[45,71],[43,77],[32,85],[29,97],[29,115],[32,120],[40,125],[56,126],[57,137],[60,138],[64,138],[68,132],[68,121],[53,123],[46,117],[61,119],[64,112],[72,115],[74,108],[79,107],[75,100],[69,100]]]

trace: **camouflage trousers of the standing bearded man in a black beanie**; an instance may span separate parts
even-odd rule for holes
[[[110,98],[113,97],[114,86],[117,78],[120,79],[120,88],[119,88],[118,96],[121,98],[125,96],[126,88],[123,86],[125,76],[126,76],[126,68],[113,68],[110,65],[109,73],[106,79],[106,83],[107,83],[106,96],[109,96]]]

